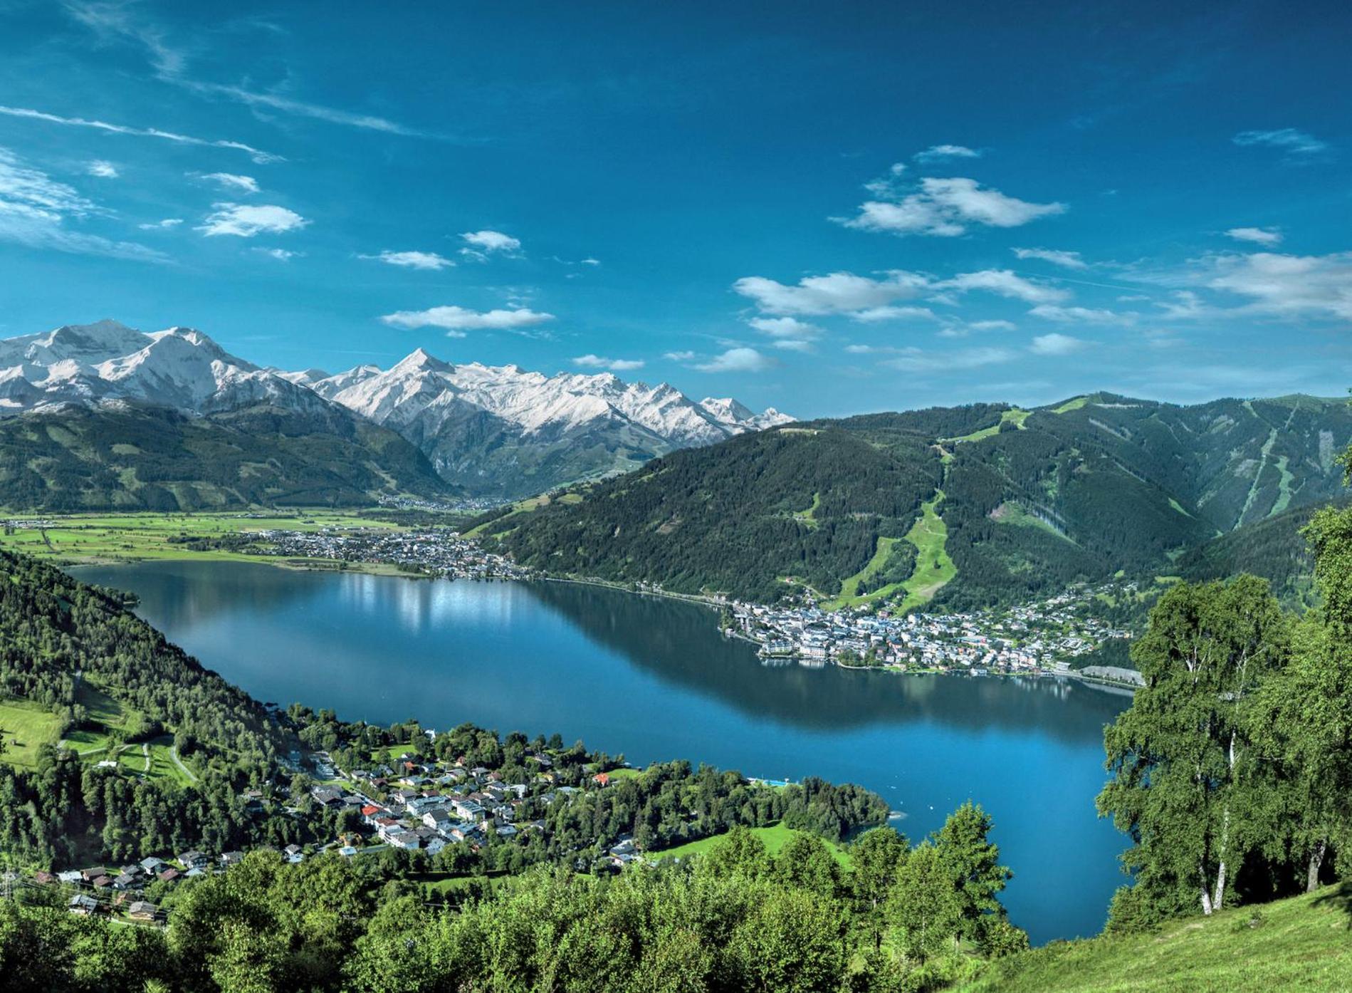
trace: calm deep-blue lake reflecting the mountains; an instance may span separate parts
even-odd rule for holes
[[[821,775],[880,793],[911,839],[967,798],[995,818],[1034,942],[1098,932],[1125,839],[1094,813],[1102,729],[1130,703],[1073,680],[763,664],[711,610],[569,583],[295,572],[247,563],[77,568],[234,683],[377,724],[560,732],[634,763]]]

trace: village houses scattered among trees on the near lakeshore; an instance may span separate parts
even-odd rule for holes
[[[345,737],[333,751],[292,751],[281,758],[270,781],[242,790],[237,798],[246,820],[262,824],[283,818],[306,840],[284,847],[246,846],[247,851],[272,852],[291,864],[326,855],[375,859],[381,873],[427,882],[425,898],[435,902],[473,881],[483,883],[542,860],[565,862],[591,874],[619,871],[639,860],[656,863],[679,856],[687,839],[726,829],[706,802],[692,795],[676,836],[660,837],[629,812],[626,802],[633,804],[637,794],[615,795],[615,787],[639,778],[644,770],[626,764],[622,756],[587,752],[580,741],[565,747],[557,735],[546,743],[542,736],[527,741],[525,735],[512,733],[499,743],[492,732],[470,725],[449,733],[416,725],[403,729],[414,736],[406,745],[368,749],[358,739]],[[491,744],[485,745],[484,735]],[[446,747],[466,740],[473,741],[472,749],[450,758]],[[104,763],[99,768],[104,770]],[[658,782],[669,781],[680,774],[681,763],[652,771]],[[688,764],[683,771],[694,783]],[[101,774],[135,775],[115,764]],[[784,797],[784,790],[798,789],[787,781],[730,775],[750,793]],[[625,816],[604,816],[587,827],[598,810]],[[639,825],[639,833],[630,824]],[[120,867],[7,869],[0,871],[0,897],[16,889],[41,889],[49,898],[59,897],[73,915],[162,927],[185,881],[227,873],[245,858],[241,850],[189,847]]]

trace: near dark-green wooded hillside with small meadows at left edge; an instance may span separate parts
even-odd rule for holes
[[[30,770],[0,762],[0,851],[20,862],[239,844],[254,832],[239,790],[260,785],[289,747],[261,703],[112,594],[8,552],[0,552],[0,744],[30,748]],[[176,762],[197,770],[184,774],[197,789],[177,789],[172,778],[137,782],[51,740],[31,741],[35,724],[14,726],[24,713],[51,714],[53,739],[95,731],[164,740]]]

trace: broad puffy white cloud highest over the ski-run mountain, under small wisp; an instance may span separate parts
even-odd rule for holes
[[[871,189],[877,193],[876,187]],[[925,177],[919,189],[890,199],[867,200],[859,216],[840,221],[846,227],[888,234],[929,234],[952,238],[972,225],[1019,227],[1041,216],[1065,212],[1063,203],[1029,203],[976,180]]]

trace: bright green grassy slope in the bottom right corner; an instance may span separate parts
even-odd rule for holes
[[[1276,993],[1352,989],[1352,885],[1155,935],[1059,942],[994,963],[963,993]]]

